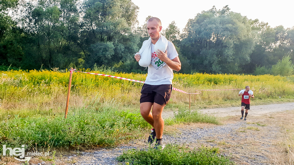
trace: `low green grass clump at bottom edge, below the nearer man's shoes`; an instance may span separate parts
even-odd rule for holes
[[[201,147],[188,149],[185,146],[168,144],[163,150],[149,147],[146,150],[132,149],[118,156],[118,161],[132,165],[183,165],[217,164],[234,165],[227,156],[218,153],[218,148]]]

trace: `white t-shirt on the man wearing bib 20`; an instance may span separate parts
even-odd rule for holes
[[[178,52],[173,45],[173,43],[168,41],[167,46],[167,57],[171,60],[178,56]],[[154,44],[151,46],[151,61],[156,57],[154,50]],[[165,65],[161,69],[156,70],[151,64],[148,66],[148,74],[145,80],[145,84],[149,85],[162,85],[162,84],[172,84],[173,80],[173,70]]]

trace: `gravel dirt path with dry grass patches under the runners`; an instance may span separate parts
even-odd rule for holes
[[[278,143],[285,137],[281,125],[293,119],[294,102],[284,104],[251,106],[247,121],[240,120],[240,107],[203,109],[203,113],[217,117],[228,117],[223,125],[190,124],[165,127],[163,139],[166,143],[186,144],[187,147],[218,147],[221,154],[229,156],[236,164],[270,165],[275,155],[284,153]],[[173,112],[164,112],[170,117]],[[252,129],[253,128],[253,129]],[[146,139],[147,139],[146,134]],[[132,148],[146,148],[146,139],[136,139],[111,149],[84,151],[56,159],[56,164],[116,165],[116,157]]]

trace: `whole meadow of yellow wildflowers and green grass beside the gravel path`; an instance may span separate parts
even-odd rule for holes
[[[100,71],[82,70],[101,73]],[[145,80],[145,74],[108,74]],[[175,74],[173,87],[186,92],[201,89],[234,89],[249,85],[255,99],[291,100],[294,98],[293,76]],[[68,118],[64,119],[69,72],[0,71],[0,144],[19,147],[74,147],[77,145],[114,146],[142,136],[150,128],[139,113],[141,83],[85,73],[73,73]],[[193,97],[192,97],[193,98]],[[165,109],[178,110],[166,124],[209,122],[215,117],[195,109],[213,105],[239,105],[238,91],[202,91],[192,100],[189,95],[172,92]],[[1,147],[1,146],[0,146]],[[0,148],[0,151],[1,148]]]

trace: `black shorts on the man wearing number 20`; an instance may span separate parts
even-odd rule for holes
[[[162,106],[166,106],[166,103],[171,98],[171,91],[173,87],[171,84],[163,85],[149,85],[144,84],[141,90],[140,103],[152,102]]]

